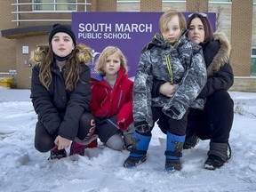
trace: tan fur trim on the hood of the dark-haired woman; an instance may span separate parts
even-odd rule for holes
[[[214,75],[225,65],[225,63],[229,63],[230,58],[231,44],[229,43],[227,36],[223,33],[214,34],[214,41],[220,42],[220,50],[214,56],[211,64],[207,68],[208,76]],[[205,56],[207,57],[207,55],[204,55],[204,58]]]

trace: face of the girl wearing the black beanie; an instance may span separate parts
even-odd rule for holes
[[[73,40],[68,34],[59,32],[52,37],[52,51],[59,57],[66,57],[74,48]]]

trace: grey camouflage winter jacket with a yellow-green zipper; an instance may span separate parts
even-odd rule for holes
[[[204,100],[196,100],[207,80],[204,55],[201,46],[188,42],[186,33],[173,46],[157,33],[143,48],[133,87],[136,128],[154,125],[151,107],[163,107],[166,116],[178,120],[192,106],[204,108]],[[162,94],[152,98],[153,79],[179,84],[179,88],[172,98]]]

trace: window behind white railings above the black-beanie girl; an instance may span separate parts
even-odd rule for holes
[[[77,0],[33,0],[34,11],[76,11]]]

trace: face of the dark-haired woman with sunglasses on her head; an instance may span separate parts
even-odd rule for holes
[[[188,28],[188,40],[200,44],[204,42],[204,25],[199,18],[191,20],[190,26]]]

